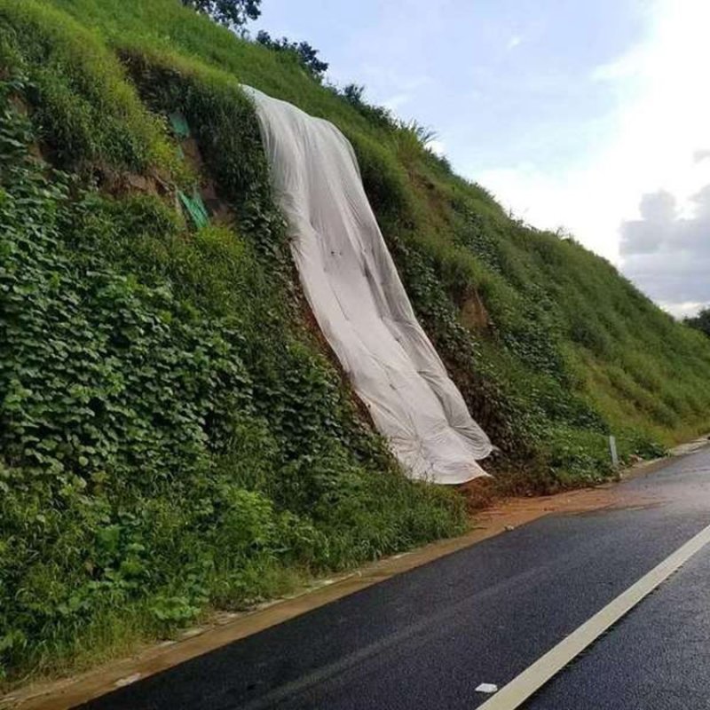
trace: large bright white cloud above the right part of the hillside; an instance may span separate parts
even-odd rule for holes
[[[710,131],[710,3],[656,0],[644,7],[643,42],[589,75],[615,102],[593,158],[564,172],[530,164],[471,171],[528,222],[564,225],[618,263],[619,225],[637,217],[641,195],[665,190],[687,214],[691,195],[710,184],[710,161],[698,161]]]

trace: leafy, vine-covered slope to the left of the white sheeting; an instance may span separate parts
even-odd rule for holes
[[[401,475],[301,322],[233,80],[131,61],[238,215],[194,233],[194,166],[113,52],[42,4],[0,23],[0,680],[460,533],[461,499]],[[123,189],[138,173],[162,197]]]

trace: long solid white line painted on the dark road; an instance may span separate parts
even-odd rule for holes
[[[688,540],[675,552],[667,556],[663,562],[656,565],[651,572],[622,592],[604,609],[584,622],[572,634],[557,643],[544,656],[527,667],[507,685],[503,686],[493,698],[486,700],[478,710],[515,710],[536,690],[539,690],[554,675],[559,673],[572,659],[584,651],[588,645],[604,634],[621,617],[631,611],[643,597],[649,595],[659,584],[667,580],[690,557],[704,548],[710,542],[710,525],[703,528],[695,537]]]

